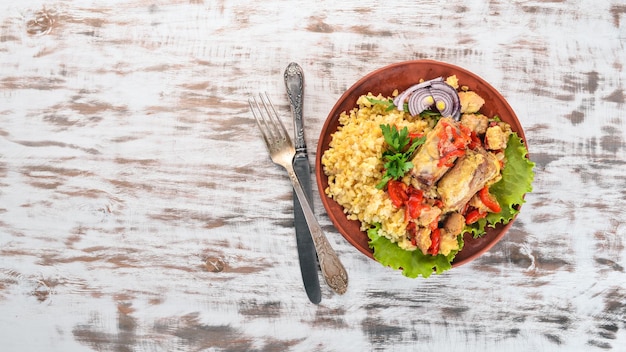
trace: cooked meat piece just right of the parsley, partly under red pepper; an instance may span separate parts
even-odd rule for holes
[[[426,141],[422,144],[413,160],[413,169],[411,169],[411,183],[415,188],[427,191],[429,190],[450,168],[441,165],[439,161],[442,157],[439,150],[440,135],[445,126],[451,126],[460,133],[458,123],[451,118],[441,118],[435,128],[433,128],[427,135]],[[444,144],[446,144],[445,142]],[[450,143],[447,143],[450,144]],[[454,162],[456,157],[450,158],[450,162]]]

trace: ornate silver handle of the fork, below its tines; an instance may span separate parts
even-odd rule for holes
[[[315,245],[315,251],[317,251],[317,259],[319,260],[320,268],[322,269],[322,276],[333,291],[338,294],[344,294],[348,289],[348,273],[343,267],[343,264],[341,264],[337,253],[333,247],[331,247],[330,242],[328,242],[326,235],[324,235],[324,231],[322,231],[322,227],[317,221],[317,218],[313,213],[313,209],[311,209],[311,205],[304,195],[300,180],[298,180],[298,176],[293,171],[291,164],[287,165],[287,173],[289,173],[293,189],[296,192],[298,201],[300,201],[304,218],[306,219],[309,231],[311,232],[313,244]]]

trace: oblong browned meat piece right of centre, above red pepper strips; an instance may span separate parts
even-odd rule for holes
[[[437,184],[443,211],[458,211],[489,180],[500,173],[500,163],[484,149],[468,150]]]

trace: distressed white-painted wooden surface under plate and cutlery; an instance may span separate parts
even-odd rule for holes
[[[3,351],[624,351],[626,4],[2,1]],[[537,163],[508,235],[407,279],[316,214],[350,275],[310,304],[292,190],[247,96],[310,156],[358,78],[428,58],[492,83]]]

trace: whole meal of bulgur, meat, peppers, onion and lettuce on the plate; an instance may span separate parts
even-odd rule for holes
[[[526,147],[484,103],[450,76],[362,95],[339,116],[321,157],[325,193],[383,265],[409,277],[450,269],[464,233],[508,223],[532,190]]]

